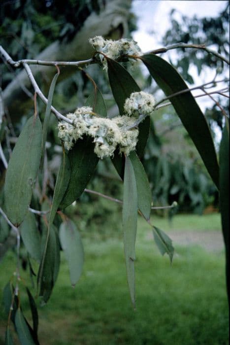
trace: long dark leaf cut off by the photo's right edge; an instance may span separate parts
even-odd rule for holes
[[[220,145],[220,209],[226,252],[226,278],[229,291],[229,134],[225,126]]]

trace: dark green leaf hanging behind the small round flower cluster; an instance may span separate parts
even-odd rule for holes
[[[118,62],[107,58],[107,64],[108,64],[108,77],[109,77],[110,87],[113,93],[113,97],[118,105],[120,115],[122,116],[124,115],[124,104],[125,104],[126,99],[130,97],[132,92],[139,92],[140,88],[136,84],[135,80],[132,78],[130,73]],[[139,135],[138,135],[138,141],[136,145],[136,152],[139,157],[143,155],[144,148],[146,146],[146,142],[149,136],[149,126],[150,126],[149,117],[147,117],[138,126]],[[118,156],[117,153],[115,153],[114,157],[115,159],[113,160],[113,162],[115,163],[114,166],[116,168],[117,166],[116,162],[121,160],[121,157]],[[124,162],[123,162],[123,166],[124,166]],[[123,168],[123,171],[124,171],[124,168]]]

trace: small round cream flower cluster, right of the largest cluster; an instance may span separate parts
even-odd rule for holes
[[[152,95],[140,91],[131,93],[126,99],[124,110],[128,116],[148,116],[154,111],[155,99]]]

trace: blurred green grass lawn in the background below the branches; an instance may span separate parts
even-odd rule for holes
[[[167,221],[154,225],[169,233]],[[173,229],[218,230],[218,214],[176,216]],[[148,239],[149,227],[139,219],[136,242],[136,310],[126,281],[120,239],[84,239],[84,272],[75,288],[62,265],[50,301],[39,307],[41,345],[225,345],[228,302],[224,252],[198,246],[176,246],[172,266]],[[15,269],[12,253],[0,263],[0,294]],[[26,280],[29,282],[29,279]],[[21,302],[30,318],[21,284]],[[38,305],[38,303],[37,303]],[[6,315],[0,309],[0,344]],[[18,344],[15,342],[15,344]]]

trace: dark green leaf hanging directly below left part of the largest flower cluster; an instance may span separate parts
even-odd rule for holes
[[[70,162],[70,179],[60,208],[72,204],[84,192],[91,176],[95,172],[99,158],[94,153],[92,138],[84,137],[77,140],[68,152]]]

